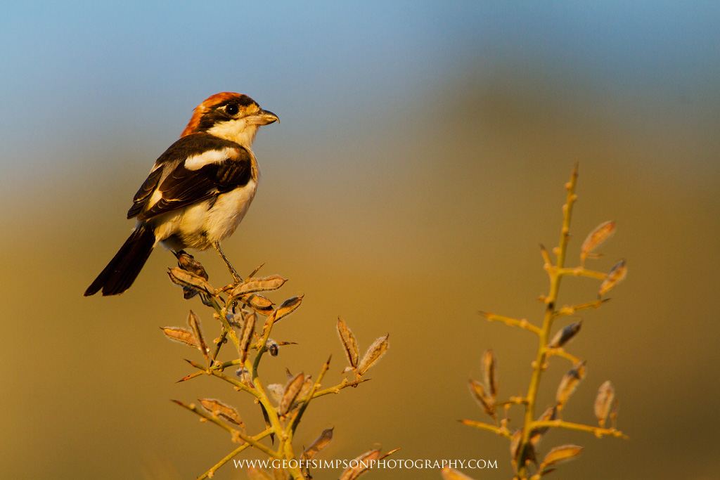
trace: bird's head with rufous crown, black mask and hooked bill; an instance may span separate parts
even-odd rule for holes
[[[223,91],[195,108],[180,136],[205,132],[250,148],[258,127],[277,121],[276,114],[261,109],[249,96]]]

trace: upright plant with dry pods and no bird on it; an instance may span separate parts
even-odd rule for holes
[[[484,381],[470,379],[469,390],[471,396],[485,414],[495,420],[495,424],[474,420],[460,420],[463,425],[487,430],[510,440],[511,460],[516,472],[514,476],[515,480],[528,480],[530,463],[534,463],[536,467],[536,471],[534,475],[531,476],[531,480],[539,480],[545,474],[554,471],[553,467],[557,463],[570,460],[580,454],[582,451],[582,447],[580,446],[559,445],[549,450],[546,456],[540,461],[540,458],[536,456],[536,446],[540,439],[552,428],[592,433],[598,438],[604,436],[628,438],[624,433],[616,430],[615,420],[618,403],[615,399],[615,389],[610,381],[606,381],[600,386],[598,394],[595,397],[594,409],[595,417],[598,419],[597,426],[562,420],[562,409],[564,405],[567,404],[568,399],[570,399],[570,396],[577,388],[578,382],[585,376],[586,361],[565,350],[567,344],[580,332],[583,320],[575,319],[575,322],[565,325],[559,330],[555,329],[557,332],[555,332],[551,340],[550,333],[553,330],[554,321],[562,317],[574,316],[582,310],[601,307],[608,301],[608,299],[603,299],[603,295],[610,291],[619,281],[622,281],[627,273],[626,261],[624,260],[616,263],[608,273],[585,268],[586,259],[595,259],[601,256],[600,253],[595,253],[595,250],[615,232],[615,222],[613,221],[601,223],[588,234],[585,242],[582,243],[580,266],[575,268],[567,268],[564,266],[567,257],[567,245],[570,240],[572,209],[577,200],[575,194],[576,184],[577,163],[572,168],[570,181],[565,184],[567,198],[562,206],[562,229],[559,243],[557,247],[552,250],[552,253],[543,245],[540,245],[540,253],[544,262],[543,269],[549,277],[550,284],[548,293],[539,297],[539,300],[544,304],[541,325],[534,325],[524,318],[517,319],[480,312],[487,320],[502,322],[510,327],[519,327],[528,332],[533,332],[538,337],[538,347],[534,361],[531,364],[531,378],[526,395],[523,397],[509,397],[507,400],[498,401],[498,375],[495,369],[497,363],[495,361],[495,353],[492,349],[488,349],[482,356]],[[552,258],[553,253],[554,259]],[[593,302],[559,306],[557,301],[560,284],[565,276],[582,276],[595,281],[601,281],[597,299]],[[572,368],[565,373],[559,382],[554,406],[548,407],[537,417],[536,406],[540,383],[543,372],[546,370],[551,357],[564,358],[572,363]],[[513,429],[510,430],[508,411],[513,405],[521,405],[524,415],[522,416],[522,425],[513,426]],[[505,417],[500,418],[498,411],[503,408],[505,409]],[[610,428],[605,427],[605,422],[608,417],[612,422],[612,427]],[[444,472],[444,478],[448,480],[450,478],[461,478],[461,476],[462,478],[469,478],[464,475],[446,475],[446,472]]]

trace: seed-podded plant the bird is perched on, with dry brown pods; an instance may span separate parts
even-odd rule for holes
[[[220,252],[220,255],[222,255],[222,252]],[[205,376],[215,376],[232,385],[236,391],[244,391],[251,394],[255,403],[260,406],[265,421],[265,430],[258,435],[252,436],[246,433],[243,421],[240,419],[240,414],[229,404],[224,404],[216,399],[201,399],[201,408],[196,404],[186,404],[174,400],[176,404],[198,415],[202,422],[212,423],[221,427],[230,434],[233,443],[241,443],[239,447],[233,447],[234,450],[232,452],[228,453],[228,455],[217,462],[215,466],[212,466],[212,468],[198,478],[206,479],[214,476],[218,468],[228,463],[228,461],[237,456],[238,453],[247,448],[258,450],[271,459],[287,461],[282,467],[282,474],[277,478],[286,480],[291,478],[292,480],[304,480],[306,477],[310,478],[307,467],[302,466],[302,463],[298,461],[301,456],[296,455],[292,445],[302,416],[305,414],[312,399],[330,393],[337,393],[348,386],[356,386],[369,380],[363,379],[361,376],[368,368],[377,362],[377,360],[382,357],[382,353],[387,350],[388,335],[375,340],[375,343],[373,343],[368,350],[369,353],[366,353],[366,356],[363,358],[361,366],[351,365],[351,370],[354,371],[356,376],[354,380],[348,381],[347,378],[343,378],[341,383],[336,386],[321,390],[320,384],[330,367],[330,358],[328,358],[328,361],[325,362],[318,378],[314,382],[311,381],[310,376],[305,376],[302,372],[291,376],[292,379],[289,380],[284,387],[282,398],[280,398],[278,397],[277,387],[282,388],[282,386],[278,384],[266,386],[264,381],[261,381],[258,370],[261,360],[267,358],[267,356],[265,356],[266,352],[269,353],[270,356],[277,356],[280,346],[294,344],[294,342],[276,342],[275,340],[270,340],[270,335],[277,321],[287,317],[300,306],[302,296],[294,296],[291,299],[287,299],[279,307],[273,307],[274,302],[259,294],[259,292],[279,289],[286,280],[279,275],[256,278],[254,275],[258,271],[258,267],[248,276],[246,281],[242,281],[229,265],[226,258],[224,258],[224,260],[228,263],[228,268],[230,268],[230,271],[233,273],[235,283],[222,289],[214,289],[208,282],[207,272],[204,271],[204,268],[202,268],[199,262],[192,258],[192,255],[182,253],[176,256],[178,257],[178,267],[171,268],[168,272],[171,281],[183,287],[183,296],[185,299],[191,299],[199,295],[200,299],[202,299],[202,304],[212,308],[215,311],[215,318],[220,320],[222,324],[220,337],[215,340],[215,348],[212,354],[210,348],[208,348],[209,344],[205,342],[202,335],[199,317],[193,312],[190,312],[188,319],[190,330],[181,327],[163,327],[162,330],[167,338],[199,350],[205,360],[204,364],[186,360],[187,363],[193,368],[196,368],[197,371],[184,376],[184,378],[179,381],[188,381],[203,374]],[[248,313],[245,307],[251,309],[252,312]],[[240,309],[239,311],[238,308]],[[255,331],[257,314],[266,317],[262,332],[259,335]],[[241,322],[240,318],[242,319]],[[238,327],[240,334],[235,332],[233,326]],[[238,356],[233,355],[235,358],[231,358],[228,361],[219,361],[217,358],[220,355],[220,349],[224,343],[228,343],[228,337],[235,345]],[[254,343],[251,343],[253,337],[256,340]],[[254,356],[251,350],[255,350]],[[234,375],[225,374],[225,368],[232,368]],[[266,441],[261,443],[261,440],[264,440],[266,437],[270,437],[271,445],[266,445]],[[323,438],[323,442],[311,445],[311,453],[305,450],[302,453],[302,458],[311,458],[311,456],[314,456],[321,448],[327,445],[332,439],[332,429],[323,431],[321,437]],[[372,452],[379,454],[379,450],[372,450]],[[389,454],[390,453],[386,453],[385,456]],[[303,470],[305,470],[305,472]],[[276,474],[277,473],[278,472],[276,472]],[[354,472],[353,469],[349,469],[343,473],[341,477],[356,479],[359,474],[361,474],[361,472]],[[261,476],[265,478],[266,474],[261,474]]]

